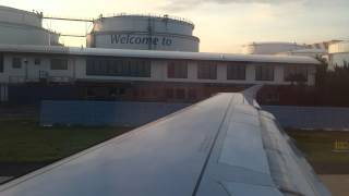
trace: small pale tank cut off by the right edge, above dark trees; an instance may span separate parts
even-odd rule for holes
[[[328,46],[329,69],[349,65],[349,41],[334,42]]]

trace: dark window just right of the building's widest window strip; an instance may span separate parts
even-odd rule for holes
[[[167,64],[168,78],[188,78],[186,61],[170,61]]]

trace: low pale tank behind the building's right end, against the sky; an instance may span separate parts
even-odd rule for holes
[[[243,46],[246,54],[276,54],[280,52],[305,49],[305,46],[296,42],[252,42]]]

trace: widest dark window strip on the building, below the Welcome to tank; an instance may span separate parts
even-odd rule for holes
[[[86,75],[151,77],[151,61],[143,59],[103,59],[86,60]]]

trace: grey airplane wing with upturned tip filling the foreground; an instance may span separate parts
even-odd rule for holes
[[[255,91],[218,94],[11,181],[0,195],[330,195]]]

